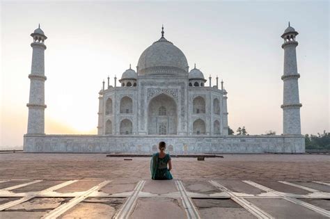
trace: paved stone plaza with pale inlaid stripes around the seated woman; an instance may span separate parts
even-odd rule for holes
[[[132,160],[125,160],[132,159]],[[0,154],[0,218],[330,218],[330,156],[173,157],[171,181],[150,159]]]

